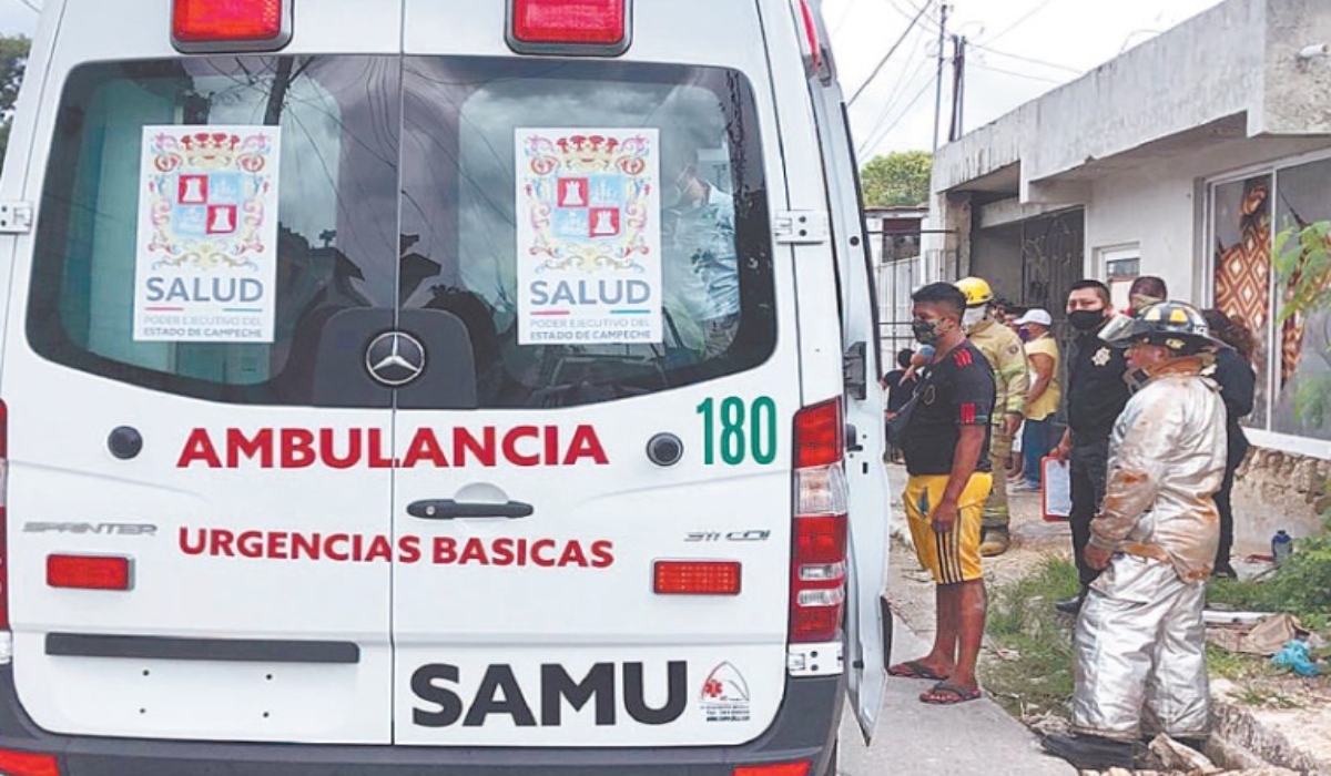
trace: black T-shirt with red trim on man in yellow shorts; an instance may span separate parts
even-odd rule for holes
[[[916,405],[901,439],[910,475],[950,474],[961,426],[984,426],[985,446],[976,471],[989,471],[989,417],[994,410],[994,373],[969,339],[953,347],[916,387]]]

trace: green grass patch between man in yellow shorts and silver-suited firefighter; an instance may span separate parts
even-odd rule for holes
[[[1017,716],[1066,716],[1073,693],[1073,619],[1053,604],[1077,592],[1077,568],[1046,558],[1030,575],[990,594],[985,688]]]

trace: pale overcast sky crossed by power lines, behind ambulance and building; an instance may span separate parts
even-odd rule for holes
[[[114,0],[106,0],[108,3]],[[500,0],[486,0],[500,1]],[[1221,0],[950,0],[948,32],[970,41],[964,129],[998,118]],[[928,3],[924,16],[910,20]],[[851,105],[862,160],[928,150],[941,0],[824,0],[841,85],[851,97],[893,43],[901,47]],[[0,32],[31,35],[41,0],[0,0]],[[941,141],[946,140],[952,43],[945,45]]]

